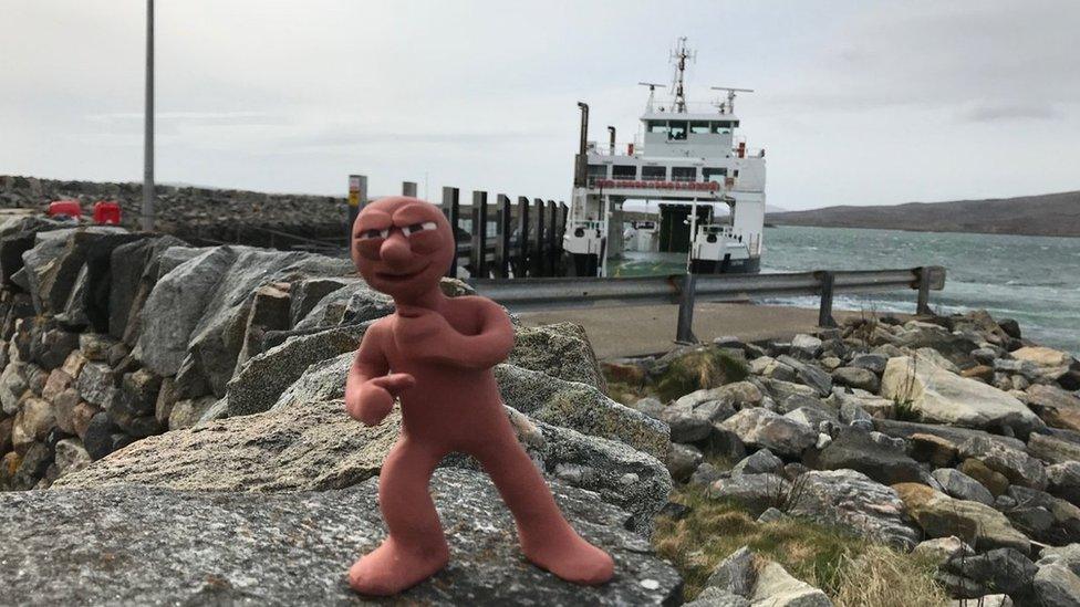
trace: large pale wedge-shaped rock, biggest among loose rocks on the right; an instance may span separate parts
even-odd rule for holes
[[[965,428],[1011,428],[1027,436],[1042,420],[1022,402],[996,388],[966,379],[935,365],[892,358],[882,377],[882,396],[910,401],[926,421]]]

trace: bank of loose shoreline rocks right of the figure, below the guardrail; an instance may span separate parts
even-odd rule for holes
[[[1015,322],[863,317],[605,367],[617,398],[671,428],[677,492],[930,559],[955,599],[1080,605],[1080,364]],[[700,597],[833,604],[746,550],[716,565]]]

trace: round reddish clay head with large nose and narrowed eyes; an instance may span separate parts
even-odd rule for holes
[[[443,212],[417,198],[392,196],[364,207],[353,223],[352,255],[373,289],[398,304],[438,289],[456,253]]]

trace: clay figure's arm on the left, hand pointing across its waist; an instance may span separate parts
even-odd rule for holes
[[[365,426],[377,426],[394,408],[394,399],[416,381],[412,375],[386,375],[390,363],[383,354],[386,335],[372,326],[356,350],[356,358],[345,379],[345,410]]]

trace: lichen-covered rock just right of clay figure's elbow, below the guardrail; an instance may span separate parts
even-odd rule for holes
[[[574,323],[515,328],[507,363],[565,381],[588,384],[602,393],[608,384],[585,329]]]

